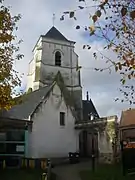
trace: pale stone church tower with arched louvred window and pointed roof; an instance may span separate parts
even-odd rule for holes
[[[41,35],[29,63],[27,91],[52,84],[60,71],[66,87],[73,92],[77,109],[80,111],[82,87],[74,45],[75,42],[66,39],[54,26],[46,35]]]

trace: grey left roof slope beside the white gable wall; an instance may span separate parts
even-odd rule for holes
[[[43,87],[26,95],[23,102],[13,106],[9,111],[1,112],[0,116],[11,119],[28,120],[42,98],[45,97],[51,86]]]

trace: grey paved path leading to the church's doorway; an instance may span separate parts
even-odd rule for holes
[[[90,166],[90,161],[83,161],[78,164],[65,163],[55,166],[53,172],[57,175],[58,180],[80,180],[80,170],[89,169]]]

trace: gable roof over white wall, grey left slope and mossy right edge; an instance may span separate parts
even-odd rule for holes
[[[59,88],[63,94],[66,105],[70,107],[71,112],[76,119],[77,117],[76,117],[76,113],[74,110],[74,104],[73,104],[71,94],[68,91],[68,89],[66,88],[66,86],[64,85],[63,78],[59,71],[58,71],[52,85],[40,88],[36,91],[33,91],[33,92],[27,94],[24,97],[23,102],[21,104],[13,106],[9,111],[1,112],[0,117],[18,119],[18,120],[28,120],[29,117],[40,106],[43,99],[45,99],[49,95],[50,91],[52,90],[52,88],[54,87],[55,84],[57,84],[59,86]]]

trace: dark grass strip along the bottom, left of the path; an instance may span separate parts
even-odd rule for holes
[[[0,180],[42,180],[42,170],[17,170],[6,169],[0,170]],[[52,180],[54,180],[52,174]]]

